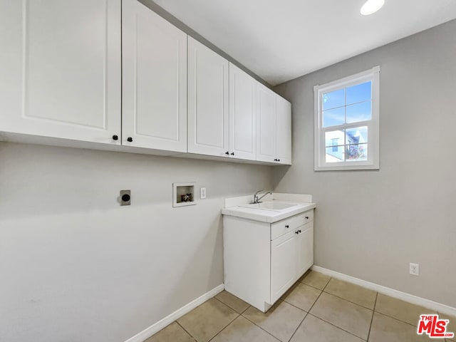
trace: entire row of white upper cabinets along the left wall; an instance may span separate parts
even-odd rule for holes
[[[291,104],[138,0],[0,9],[0,140],[291,164]]]

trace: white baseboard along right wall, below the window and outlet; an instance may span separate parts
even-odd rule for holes
[[[358,278],[355,278],[354,276],[348,276],[346,274],[333,271],[332,269],[325,269],[323,267],[315,266],[315,265],[312,266],[312,269],[314,271],[326,274],[328,276],[332,276],[333,278],[341,279],[344,281],[348,281],[349,283],[352,283],[352,284],[363,286],[366,289],[371,289],[373,291],[379,292],[380,294],[386,294],[388,296],[391,296],[391,297],[394,297],[397,299],[402,299],[403,301],[408,301],[409,303],[412,303],[412,304],[424,306],[427,309],[432,309],[432,310],[437,311],[439,314],[456,316],[456,308],[453,308],[452,306],[447,306],[445,304],[437,303],[436,301],[430,301],[429,299],[414,296],[413,294],[407,294],[402,291],[390,289],[389,287],[374,284],[374,283],[371,283],[370,281],[366,281],[363,279],[358,279]],[[426,313],[423,313],[423,314],[426,314]]]

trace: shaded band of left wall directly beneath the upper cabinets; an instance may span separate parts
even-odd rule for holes
[[[197,182],[208,199],[271,188],[271,167],[0,142],[0,217],[118,211],[172,205],[172,182]],[[120,190],[131,207],[120,208]],[[208,200],[206,199],[206,200]]]

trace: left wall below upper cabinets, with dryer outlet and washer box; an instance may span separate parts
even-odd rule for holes
[[[268,166],[0,142],[0,341],[123,342],[222,284],[223,199],[271,178]],[[172,182],[186,181],[207,199],[172,208]]]

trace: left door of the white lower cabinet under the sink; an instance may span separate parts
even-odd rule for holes
[[[294,283],[296,279],[296,229],[271,241],[271,304]]]

